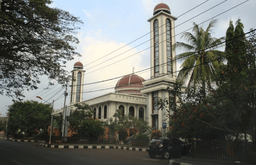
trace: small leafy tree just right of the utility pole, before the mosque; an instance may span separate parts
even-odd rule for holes
[[[67,116],[67,121],[69,122],[68,127],[70,128],[69,131],[72,131],[71,134],[73,134],[73,131],[79,131],[79,126],[82,125],[82,122],[86,117],[90,118],[93,115],[93,110],[90,110],[86,103],[74,104],[74,106],[77,109],[71,111],[70,115]]]

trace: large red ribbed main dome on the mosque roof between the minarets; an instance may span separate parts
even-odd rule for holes
[[[115,85],[115,92],[126,94],[139,94],[145,81],[141,76],[130,74],[122,77]]]

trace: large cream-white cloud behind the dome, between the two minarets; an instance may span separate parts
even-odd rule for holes
[[[138,53],[141,50],[132,49],[131,46],[125,45],[126,43],[106,41],[89,36],[80,38],[78,49],[81,50],[82,57],[80,57],[79,61],[82,62],[84,65],[84,70],[86,70],[84,83],[87,84],[91,82],[98,82],[131,74],[133,71],[133,66],[135,68],[134,72],[150,67],[150,64],[147,66],[143,65],[143,58],[147,53],[146,51]],[[123,46],[124,48],[122,48]],[[118,50],[119,48],[121,49]],[[124,53],[125,51],[127,52]],[[148,57],[150,57],[149,54]],[[150,71],[144,72],[142,74],[137,73],[137,75],[147,79],[150,77]],[[83,90],[88,92],[114,87],[119,79],[120,78],[93,85],[85,85]],[[91,99],[93,97],[114,91],[114,89],[109,89],[99,92],[85,93],[84,99]]]

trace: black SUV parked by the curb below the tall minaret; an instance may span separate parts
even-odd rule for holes
[[[161,155],[165,159],[177,157],[184,152],[184,142],[175,138],[154,138],[151,140],[148,155]]]

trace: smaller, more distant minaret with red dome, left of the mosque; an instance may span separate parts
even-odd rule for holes
[[[72,73],[72,82],[71,82],[71,95],[70,95],[70,105],[82,102],[84,89],[84,73],[85,70],[83,64],[78,61],[74,65]]]

